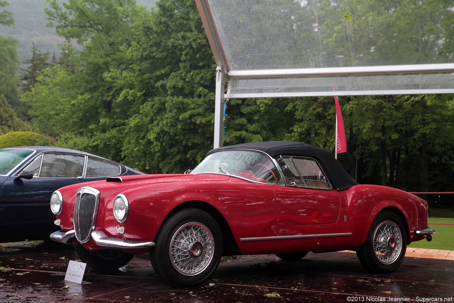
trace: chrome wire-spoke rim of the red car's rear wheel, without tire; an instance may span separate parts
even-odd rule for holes
[[[375,257],[384,264],[393,263],[400,256],[402,243],[400,228],[392,221],[385,221],[375,229]]]

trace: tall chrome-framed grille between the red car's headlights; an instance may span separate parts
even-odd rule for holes
[[[80,243],[91,238],[98,216],[99,190],[84,186],[77,191],[74,206],[74,231]]]

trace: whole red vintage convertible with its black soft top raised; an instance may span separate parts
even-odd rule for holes
[[[391,273],[408,243],[435,233],[427,202],[399,189],[356,184],[331,152],[272,141],[211,150],[186,174],[111,177],[54,192],[61,231],[91,268],[135,255],[174,286],[197,285],[222,255],[355,250],[374,273]]]

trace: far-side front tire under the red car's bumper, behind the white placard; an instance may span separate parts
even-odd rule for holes
[[[101,249],[89,252],[82,244],[74,244],[76,253],[82,262],[99,271],[111,271],[122,268],[134,257],[132,253],[125,253],[115,249]]]

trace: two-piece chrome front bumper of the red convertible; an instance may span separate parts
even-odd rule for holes
[[[50,238],[54,241],[64,244],[73,243],[76,239],[74,230],[69,232],[54,232],[50,235]],[[117,249],[141,249],[150,248],[154,246],[154,242],[151,241],[137,241],[137,240],[124,240],[119,238],[110,238],[100,230],[94,230],[91,232],[91,238],[96,245],[105,248],[117,248]]]

